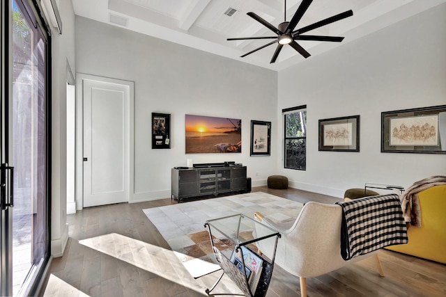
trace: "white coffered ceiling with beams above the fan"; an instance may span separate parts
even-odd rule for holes
[[[314,0],[296,29],[353,10],[352,17],[308,32],[312,35],[344,36],[345,39],[340,43],[308,40],[299,40],[298,43],[312,55],[307,58],[311,59],[445,2]],[[246,14],[254,12],[277,27],[285,17],[286,21],[293,17],[301,0],[286,1],[286,13],[284,0],[72,0],[72,3],[76,15],[271,70],[282,70],[306,60],[293,48],[284,46],[277,61],[270,64],[276,45],[240,58],[271,40],[226,40],[272,35],[270,30]]]

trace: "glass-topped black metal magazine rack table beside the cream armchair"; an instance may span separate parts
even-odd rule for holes
[[[245,296],[265,296],[274,267],[279,232],[243,214],[208,220],[204,226],[208,227],[215,259],[223,270],[213,287],[206,289],[206,294],[215,289],[226,273]],[[257,236],[257,232],[262,236]],[[257,241],[270,241],[268,244],[274,245],[272,259],[256,252]]]

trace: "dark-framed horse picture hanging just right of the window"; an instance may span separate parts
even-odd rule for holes
[[[360,151],[360,116],[319,120],[319,150]]]

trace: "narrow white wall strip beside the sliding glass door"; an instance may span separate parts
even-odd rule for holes
[[[52,29],[52,205],[51,252],[61,256],[68,241],[66,97],[67,60],[75,72],[75,13],[71,1],[59,1],[63,34]]]

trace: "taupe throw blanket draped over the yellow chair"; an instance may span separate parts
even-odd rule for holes
[[[404,193],[401,194],[401,208],[403,209],[404,220],[410,225],[421,227],[421,209],[418,193],[431,188],[432,186],[446,185],[446,176],[434,175],[413,183]]]

